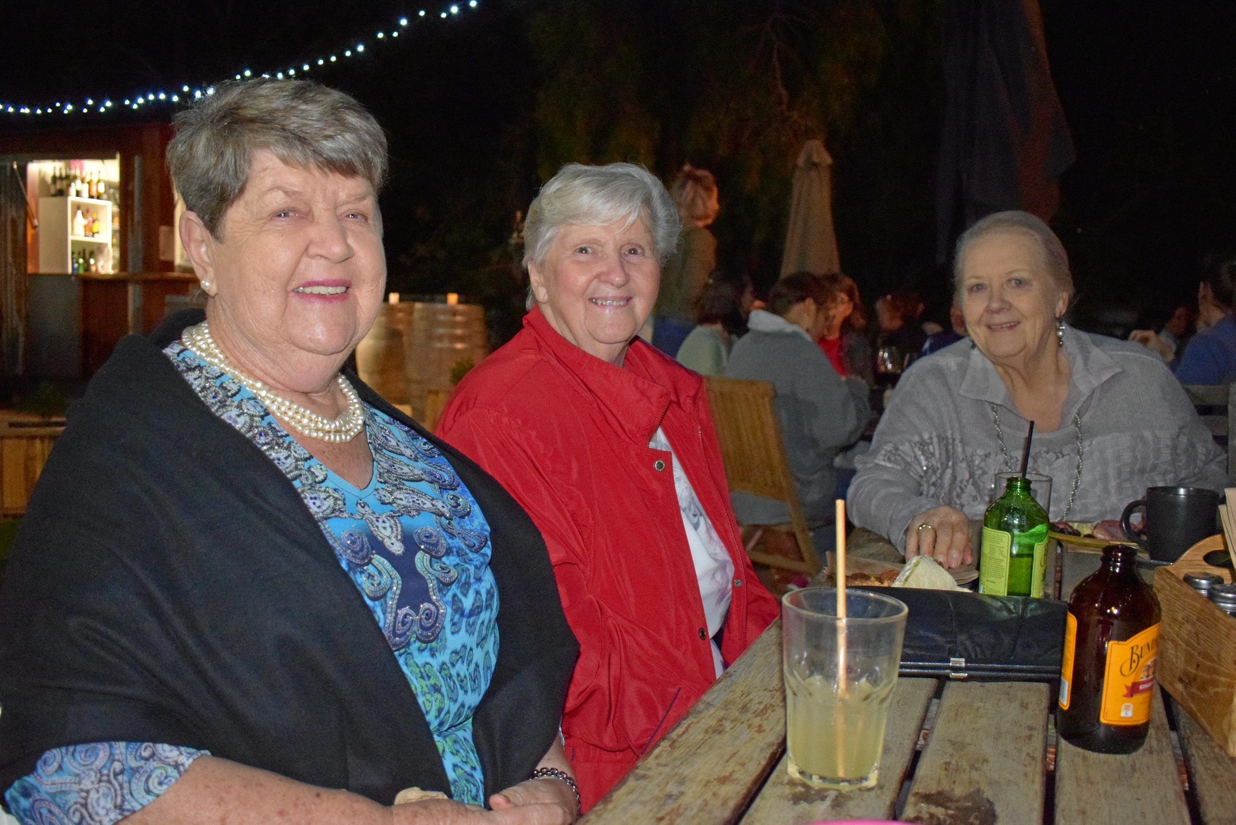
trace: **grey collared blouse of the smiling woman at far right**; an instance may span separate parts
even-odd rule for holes
[[[1119,518],[1126,503],[1157,485],[1222,490],[1222,450],[1149,350],[1065,328],[1064,351],[1072,369],[1064,414],[1054,432],[1035,432],[1030,456],[1032,472],[1052,476],[1053,519],[1063,517],[1074,479],[1068,517],[1083,522]],[[1011,464],[1000,449],[993,403]],[[948,505],[981,518],[994,475],[1017,469],[1027,428],[995,367],[969,339],[920,359],[894,391],[871,450],[857,461],[850,518],[902,549],[910,519],[925,510]]]

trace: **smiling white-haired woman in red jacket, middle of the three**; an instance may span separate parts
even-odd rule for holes
[[[580,639],[562,733],[587,810],[777,605],[743,552],[703,381],[635,336],[679,234],[660,181],[569,165],[524,231],[535,306],[439,433],[545,537]]]

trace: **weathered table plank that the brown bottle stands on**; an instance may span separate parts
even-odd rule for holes
[[[1189,823],[1159,690],[1154,691],[1151,732],[1137,753],[1090,753],[1063,738],[1057,745],[1056,825],[1109,823]]]

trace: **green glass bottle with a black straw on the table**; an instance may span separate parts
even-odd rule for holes
[[[1030,481],[1014,476],[983,515],[979,592],[1042,599],[1046,569],[1047,513],[1030,495]]]

